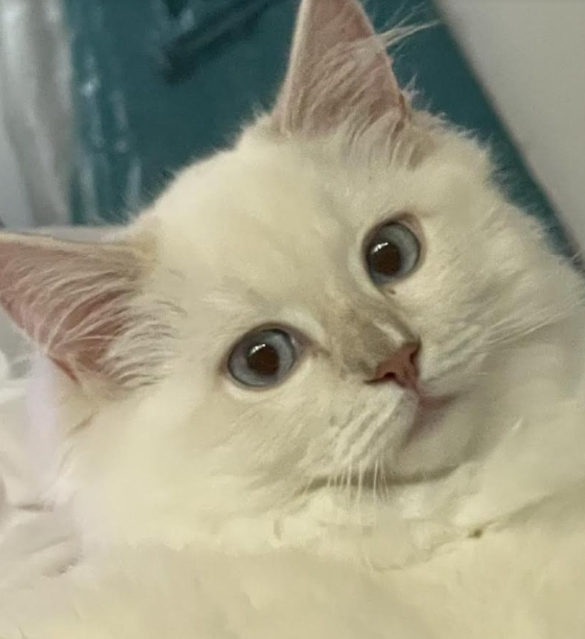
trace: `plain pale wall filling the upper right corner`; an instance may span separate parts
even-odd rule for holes
[[[552,203],[585,247],[585,0],[438,0]]]

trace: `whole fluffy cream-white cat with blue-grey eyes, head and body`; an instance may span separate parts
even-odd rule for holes
[[[583,299],[357,0],[303,0],[234,148],[110,243],[1,236],[83,556],[0,637],[582,637]]]

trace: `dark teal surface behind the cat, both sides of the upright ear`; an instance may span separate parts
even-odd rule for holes
[[[175,170],[225,146],[246,118],[270,105],[284,74],[299,2],[257,2],[251,17],[246,14],[254,4],[250,0],[65,4],[73,35],[79,132],[72,221],[95,224],[132,216]],[[417,21],[438,17],[428,0],[372,0],[366,8],[378,28],[415,8]],[[190,37],[209,20],[213,28]],[[175,46],[182,41],[189,45],[183,57]],[[174,67],[169,62],[173,51]],[[415,78],[424,106],[492,144],[511,197],[564,245],[543,190],[448,29],[439,25],[403,43],[395,54],[395,71],[402,83]]]

